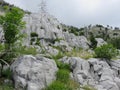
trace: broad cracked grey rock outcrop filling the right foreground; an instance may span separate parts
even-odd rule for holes
[[[97,90],[120,90],[120,60],[106,61],[91,58],[64,57],[63,63],[71,65],[72,77],[80,85],[90,85]]]

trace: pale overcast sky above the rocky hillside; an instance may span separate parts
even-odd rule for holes
[[[41,0],[5,0],[38,12]],[[120,0],[46,0],[47,11],[67,25],[102,24],[120,27]]]

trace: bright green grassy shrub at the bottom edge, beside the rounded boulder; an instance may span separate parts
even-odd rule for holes
[[[53,82],[45,90],[68,90],[67,87],[60,81]]]

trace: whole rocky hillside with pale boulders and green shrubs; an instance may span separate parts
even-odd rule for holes
[[[22,20],[23,37],[10,52],[0,26],[0,90],[120,90],[118,28],[76,28],[49,13]]]

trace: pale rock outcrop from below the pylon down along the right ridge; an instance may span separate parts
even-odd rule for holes
[[[23,33],[28,35],[28,38],[24,40],[25,45],[30,44],[30,34],[35,32],[38,34],[40,43],[43,46],[54,44],[57,40],[61,40],[55,45],[61,46],[64,42],[64,46],[68,51],[70,51],[70,47],[89,48],[89,42],[86,37],[64,32],[59,21],[49,14],[25,15],[23,20],[26,22],[26,29],[23,30]]]

